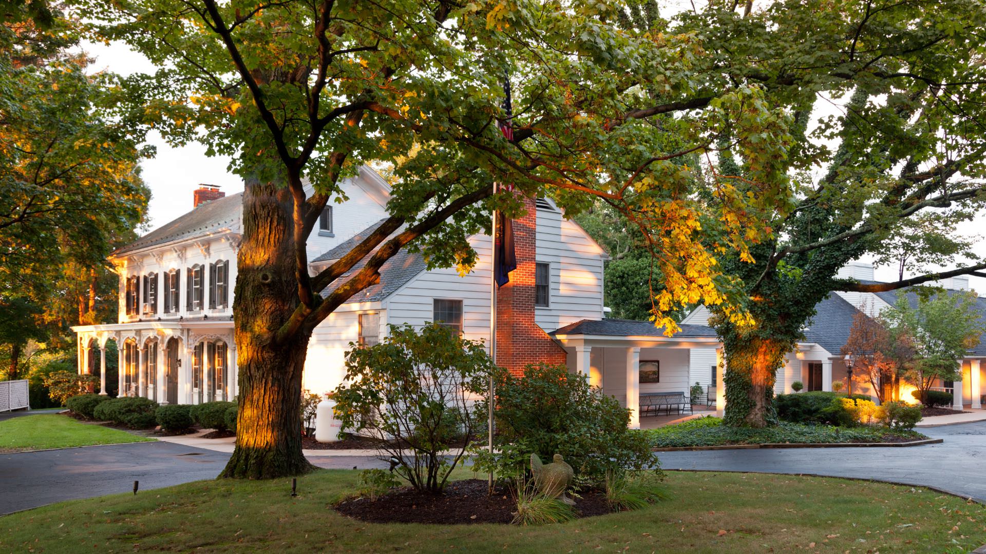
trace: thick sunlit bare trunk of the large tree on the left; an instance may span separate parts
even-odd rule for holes
[[[234,297],[240,412],[237,443],[222,477],[298,475],[302,454],[302,370],[310,334],[284,343],[275,331],[298,306],[287,187],[247,181],[244,235]]]

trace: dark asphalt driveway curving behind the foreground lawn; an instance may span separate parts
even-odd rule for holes
[[[931,486],[986,502],[986,422],[923,430],[945,443],[910,448],[661,452],[666,469],[810,473]],[[172,443],[0,454],[0,515],[53,502],[213,479],[229,454]],[[371,456],[317,456],[320,467],[387,467]]]

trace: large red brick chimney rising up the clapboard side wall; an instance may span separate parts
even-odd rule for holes
[[[564,364],[565,350],[534,322],[534,261],[537,212],[524,199],[527,214],[514,220],[517,269],[510,282],[497,290],[496,364],[521,376],[528,364]]]

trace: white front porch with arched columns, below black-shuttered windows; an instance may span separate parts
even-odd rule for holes
[[[106,347],[118,349],[118,395],[162,404],[231,400],[237,394],[233,321],[138,321],[72,327],[79,374],[99,375],[106,387]]]

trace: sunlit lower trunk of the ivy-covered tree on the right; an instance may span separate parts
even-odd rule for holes
[[[774,382],[784,355],[791,350],[787,341],[737,337],[724,340],[726,350],[726,413],[724,422],[732,427],[766,427],[777,423]]]

